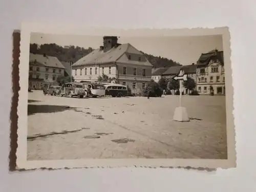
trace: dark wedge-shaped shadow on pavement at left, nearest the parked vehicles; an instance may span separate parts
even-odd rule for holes
[[[75,107],[62,106],[62,105],[33,105],[28,104],[28,115],[35,113],[54,113],[62,112],[65,110],[75,109]]]

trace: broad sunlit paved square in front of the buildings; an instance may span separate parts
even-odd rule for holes
[[[224,96],[184,95],[190,122],[181,123],[172,121],[176,95],[148,100],[28,94],[28,160],[227,158]]]

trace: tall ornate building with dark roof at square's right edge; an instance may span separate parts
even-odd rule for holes
[[[197,62],[197,91],[199,94],[225,94],[223,51],[202,54]]]

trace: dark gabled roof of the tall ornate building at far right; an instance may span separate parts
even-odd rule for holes
[[[212,50],[208,53],[202,53],[197,61],[197,65],[207,65],[212,59],[218,59],[220,63],[224,65],[223,51]]]

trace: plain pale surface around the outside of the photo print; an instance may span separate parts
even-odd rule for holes
[[[2,70],[1,191],[255,191],[255,6],[240,1],[6,1],[0,3]],[[115,9],[114,9],[115,8]],[[113,11],[113,9],[115,11]],[[104,19],[107,18],[107,19]],[[111,18],[111,19],[110,19]],[[122,28],[229,26],[238,167],[199,172],[183,169],[76,169],[8,173],[13,29],[20,22],[55,21]],[[2,84],[3,85],[3,84]],[[246,90],[246,91],[241,91]],[[43,181],[43,182],[42,182]]]

